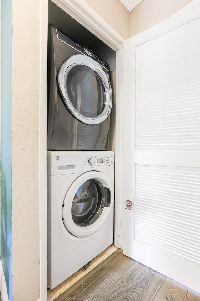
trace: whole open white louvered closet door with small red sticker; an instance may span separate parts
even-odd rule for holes
[[[198,292],[199,14],[194,0],[125,41],[123,113],[123,253]]]

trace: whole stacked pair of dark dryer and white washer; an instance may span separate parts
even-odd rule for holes
[[[47,90],[47,286],[53,289],[113,243],[109,65],[49,24]]]

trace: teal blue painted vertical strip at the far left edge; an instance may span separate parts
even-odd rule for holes
[[[12,301],[12,0],[1,0],[1,260]]]

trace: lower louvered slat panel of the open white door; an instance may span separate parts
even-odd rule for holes
[[[199,216],[199,168],[135,166],[134,240],[200,265]]]

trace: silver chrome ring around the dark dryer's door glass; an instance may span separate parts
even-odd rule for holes
[[[72,70],[75,66],[86,66],[89,67],[91,70],[95,72],[95,74],[100,79],[100,82],[102,84],[102,88],[105,93],[105,102],[102,112],[96,116],[96,117],[86,117],[73,106],[70,97],[68,95],[68,91],[66,88],[66,81],[69,72]],[[81,121],[84,124],[89,125],[95,125],[102,123],[105,119],[108,118],[108,115],[110,114],[112,104],[113,104],[113,95],[112,95],[112,89],[110,82],[108,80],[108,77],[106,76],[106,73],[103,71],[102,67],[94,61],[92,58],[85,56],[85,55],[73,55],[69,57],[66,61],[64,61],[63,65],[60,68],[60,71],[58,73],[58,85],[60,88],[60,92],[62,94],[63,100],[65,105],[67,106],[68,110],[73,114],[73,116]]]

